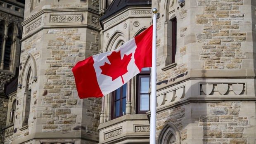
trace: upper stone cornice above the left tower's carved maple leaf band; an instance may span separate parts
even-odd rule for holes
[[[99,15],[99,12],[97,12],[96,10],[91,9],[91,8],[42,9],[38,13],[36,13],[35,15],[33,15],[33,16],[27,18],[27,19],[24,19],[24,21],[21,23],[21,25],[25,26],[26,24],[28,24],[29,22],[33,21],[34,19],[37,19],[37,17],[40,17],[42,14],[49,13],[49,12],[90,12],[92,14]]]

